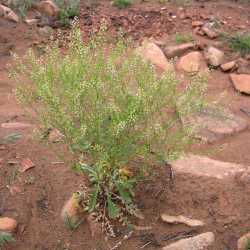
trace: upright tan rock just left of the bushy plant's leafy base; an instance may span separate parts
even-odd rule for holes
[[[77,221],[79,221],[79,216],[82,213],[82,208],[79,202],[79,195],[77,193],[74,193],[65,203],[61,211],[61,218],[64,222],[70,220],[76,223]]]

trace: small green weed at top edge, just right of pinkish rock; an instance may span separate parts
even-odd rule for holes
[[[80,13],[80,0],[55,0],[59,7],[59,21],[62,26],[69,26],[70,21]]]

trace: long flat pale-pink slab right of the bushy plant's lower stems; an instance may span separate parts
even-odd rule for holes
[[[244,165],[192,154],[173,162],[172,167],[176,174],[184,173],[192,177],[208,177],[219,180],[240,177],[248,170],[248,167]]]

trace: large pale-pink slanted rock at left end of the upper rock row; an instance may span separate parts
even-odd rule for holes
[[[144,41],[136,52],[144,60],[150,61],[161,70],[173,70],[172,64],[168,62],[162,50],[155,43]]]

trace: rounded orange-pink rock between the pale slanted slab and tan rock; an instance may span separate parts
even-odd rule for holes
[[[200,70],[207,69],[204,58],[198,51],[190,52],[183,56],[180,59],[177,67],[187,73],[196,73]]]

